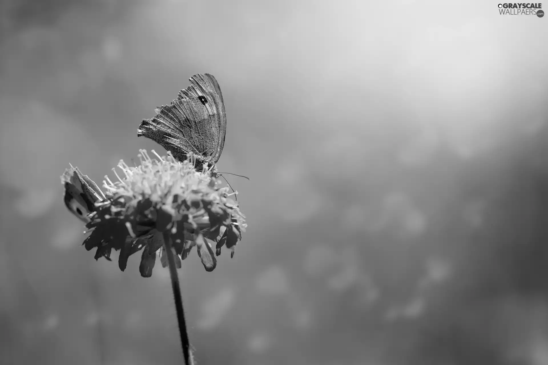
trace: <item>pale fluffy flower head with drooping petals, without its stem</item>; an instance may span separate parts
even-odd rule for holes
[[[96,192],[99,188],[94,189],[95,209],[87,216],[86,224],[90,235],[83,244],[88,251],[97,248],[95,259],[110,260],[112,249],[119,250],[118,266],[122,271],[128,257],[142,250],[139,271],[141,276],[149,277],[156,256],[162,266],[167,265],[163,233],[168,231],[177,267],[197,246],[204,268],[212,271],[216,259],[209,241],[216,244],[216,256],[226,246],[232,250],[232,257],[247,227],[245,216],[229,198],[229,188],[219,187],[218,179],[211,176],[210,167],[204,165],[202,171],[196,171],[192,155],[182,162],[169,152],[167,157],[156,156],[158,160],[151,159],[146,150],[140,150],[140,165],[135,167],[121,160],[118,167],[123,175],[112,169],[118,181],[112,182],[105,176],[105,194]],[[73,176],[72,170],[77,169],[71,166],[61,177],[65,201],[66,195],[71,195],[67,192],[72,183],[66,177]]]

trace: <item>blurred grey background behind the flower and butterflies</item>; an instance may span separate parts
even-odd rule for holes
[[[493,1],[0,2],[0,363],[181,363],[167,269],[62,201],[212,73],[235,258],[179,270],[198,364],[548,364],[548,16]]]

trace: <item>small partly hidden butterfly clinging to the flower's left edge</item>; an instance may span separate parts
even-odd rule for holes
[[[89,213],[95,211],[95,203],[106,200],[105,194],[87,175],[82,175],[78,167],[70,166],[61,176],[65,187],[65,205],[78,219],[88,223]]]

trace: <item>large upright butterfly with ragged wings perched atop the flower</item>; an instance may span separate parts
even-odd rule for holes
[[[196,170],[203,164],[211,175],[219,176],[216,163],[225,144],[226,114],[219,83],[213,75],[195,74],[191,85],[179,91],[171,105],[156,109],[155,117],[143,119],[137,136],[145,136],[169,150],[183,161],[192,152]]]

